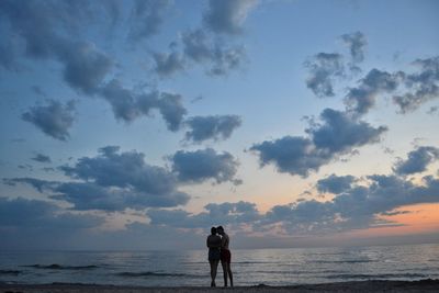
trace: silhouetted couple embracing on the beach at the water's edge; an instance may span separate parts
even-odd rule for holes
[[[211,264],[211,286],[216,286],[216,271],[218,269],[218,263],[221,260],[221,266],[223,267],[224,273],[224,286],[227,286],[227,277],[230,279],[230,286],[233,286],[233,275],[230,269],[230,250],[228,249],[228,244],[230,239],[228,235],[224,232],[223,226],[212,227],[211,235],[207,236],[207,247],[209,247],[209,263]]]

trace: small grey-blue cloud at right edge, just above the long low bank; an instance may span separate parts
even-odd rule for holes
[[[393,170],[397,174],[414,174],[427,170],[428,165],[439,159],[439,148],[420,146],[408,153],[406,160],[395,164]]]

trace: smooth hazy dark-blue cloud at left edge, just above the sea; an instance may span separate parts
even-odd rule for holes
[[[75,247],[103,223],[101,216],[66,212],[47,201],[0,196],[0,246],[4,249]]]

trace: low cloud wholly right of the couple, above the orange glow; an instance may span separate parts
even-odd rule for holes
[[[439,181],[431,177],[425,177],[420,185],[392,174],[367,178],[367,185],[352,184],[330,201],[309,200],[274,206],[257,225],[263,228],[280,224],[285,234],[303,235],[380,227],[394,225],[380,215],[397,207],[439,202]]]

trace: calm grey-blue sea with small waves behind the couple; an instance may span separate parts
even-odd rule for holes
[[[201,286],[210,284],[206,258],[206,250],[0,251],[0,282]],[[233,249],[232,270],[235,285],[438,279],[439,244]]]

